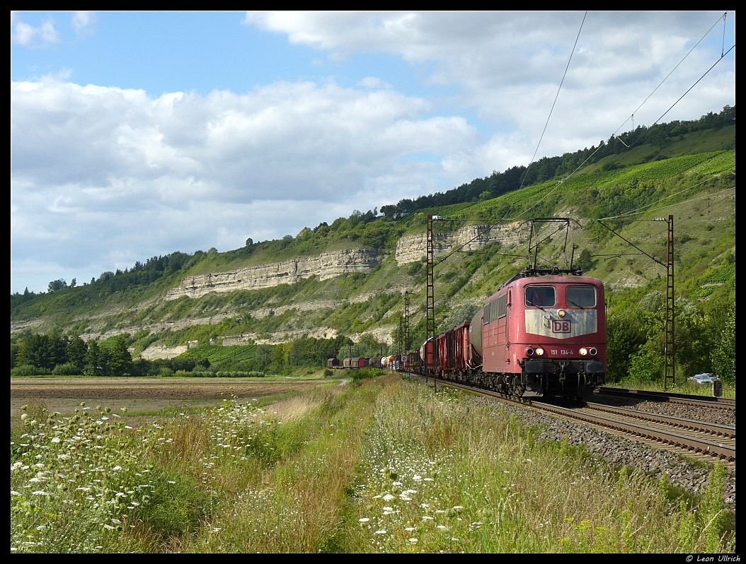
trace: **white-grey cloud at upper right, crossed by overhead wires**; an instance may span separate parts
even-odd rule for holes
[[[721,14],[589,12],[538,156],[607,139]],[[451,100],[457,111],[473,110],[498,132],[508,130],[496,133],[498,142],[518,143],[501,151],[515,160],[483,163],[492,170],[533,154],[582,19],[583,12],[265,12],[247,13],[244,23],[327,51],[332,60],[402,57],[425,69],[428,83],[459,87]],[[645,104],[636,124],[653,123],[715,62],[721,29]],[[707,79],[718,94],[699,86],[666,119],[734,104],[734,69],[732,59],[721,64]]]

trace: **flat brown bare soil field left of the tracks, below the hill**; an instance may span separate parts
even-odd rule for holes
[[[22,413],[31,399],[43,401],[49,411],[69,414],[81,402],[95,402],[114,410],[159,411],[168,407],[204,407],[223,399],[239,401],[305,390],[323,380],[266,381],[245,378],[11,378],[10,415]]]

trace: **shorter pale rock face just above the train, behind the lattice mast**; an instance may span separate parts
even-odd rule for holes
[[[454,233],[433,233],[435,256],[444,256],[454,250],[454,247],[465,245],[463,250],[478,250],[492,243],[500,241],[504,245],[513,246],[522,241],[518,231],[518,222],[500,225],[487,229],[487,225],[467,225]],[[417,262],[427,255],[427,233],[404,235],[396,244],[396,262],[407,264]]]

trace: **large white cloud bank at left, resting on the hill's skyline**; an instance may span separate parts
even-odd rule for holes
[[[392,89],[280,82],[151,98],[46,77],[10,95],[11,261],[23,279],[39,264],[98,275],[166,249],[227,250],[474,174],[398,164],[448,162],[477,135]]]

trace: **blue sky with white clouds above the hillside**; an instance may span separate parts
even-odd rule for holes
[[[653,124],[735,44],[723,14],[11,13],[10,292],[296,235]],[[735,49],[663,121],[727,104]]]

